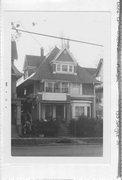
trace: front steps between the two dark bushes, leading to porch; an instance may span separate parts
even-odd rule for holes
[[[58,137],[70,137],[70,136],[71,134],[67,128],[67,125],[65,123],[61,123],[58,132]]]

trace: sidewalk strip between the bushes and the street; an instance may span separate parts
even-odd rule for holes
[[[46,146],[46,145],[94,145],[102,144],[103,138],[89,137],[89,138],[78,138],[78,137],[58,137],[58,138],[12,138],[12,146]]]

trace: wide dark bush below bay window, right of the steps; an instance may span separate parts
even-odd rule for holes
[[[69,131],[75,137],[102,137],[103,122],[94,118],[81,116],[78,120],[72,119],[69,124]]]

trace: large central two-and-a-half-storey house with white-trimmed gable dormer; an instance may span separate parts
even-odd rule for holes
[[[95,117],[95,72],[80,67],[66,47],[55,46],[46,57],[26,56],[24,77],[17,82],[18,96],[27,100],[23,109],[33,120],[56,118],[68,123],[81,115]]]

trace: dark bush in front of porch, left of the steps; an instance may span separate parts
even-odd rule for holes
[[[32,124],[32,135],[39,136],[44,134],[45,137],[55,137],[58,133],[59,123],[57,121],[39,121],[36,120]]]

